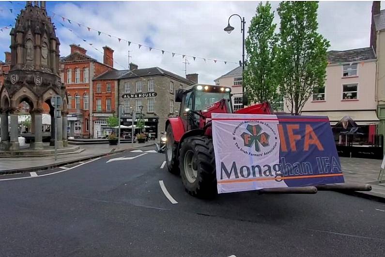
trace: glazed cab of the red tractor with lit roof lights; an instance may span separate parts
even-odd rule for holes
[[[231,88],[195,84],[179,89],[175,102],[180,102],[179,115],[185,131],[203,128],[213,112],[232,112]]]

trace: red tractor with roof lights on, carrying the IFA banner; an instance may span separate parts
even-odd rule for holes
[[[247,100],[246,100],[247,101]],[[246,105],[246,101],[244,104]],[[195,84],[176,92],[179,115],[166,121],[165,153],[170,173],[181,176],[188,193],[212,197],[217,193],[216,160],[212,137],[212,113],[233,113],[231,89]],[[235,111],[239,114],[273,114],[269,103]],[[260,193],[317,193],[317,190],[370,191],[371,186],[323,184],[292,188],[265,188]]]

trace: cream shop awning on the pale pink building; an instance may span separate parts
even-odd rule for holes
[[[336,125],[344,116],[350,116],[357,125],[378,124],[380,120],[377,118],[376,111],[324,111],[324,112],[301,112],[303,116],[328,116],[330,125]]]

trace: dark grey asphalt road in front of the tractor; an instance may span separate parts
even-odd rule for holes
[[[0,180],[0,256],[384,256],[385,204],[334,192],[200,200],[149,149]]]

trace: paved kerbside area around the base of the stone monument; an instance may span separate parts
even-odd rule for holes
[[[114,152],[121,152],[132,147],[139,145],[153,145],[155,141],[150,141],[146,144],[139,143],[124,143],[117,145],[108,144],[95,144],[95,145],[80,145],[80,149],[83,151],[77,151],[75,153],[59,153],[58,158],[55,161],[54,156],[46,157],[0,157],[0,174],[1,173],[14,173],[14,172],[29,172],[39,170],[44,166],[62,165],[68,162],[87,160],[93,157],[108,155]],[[73,146],[73,145],[71,145]]]

